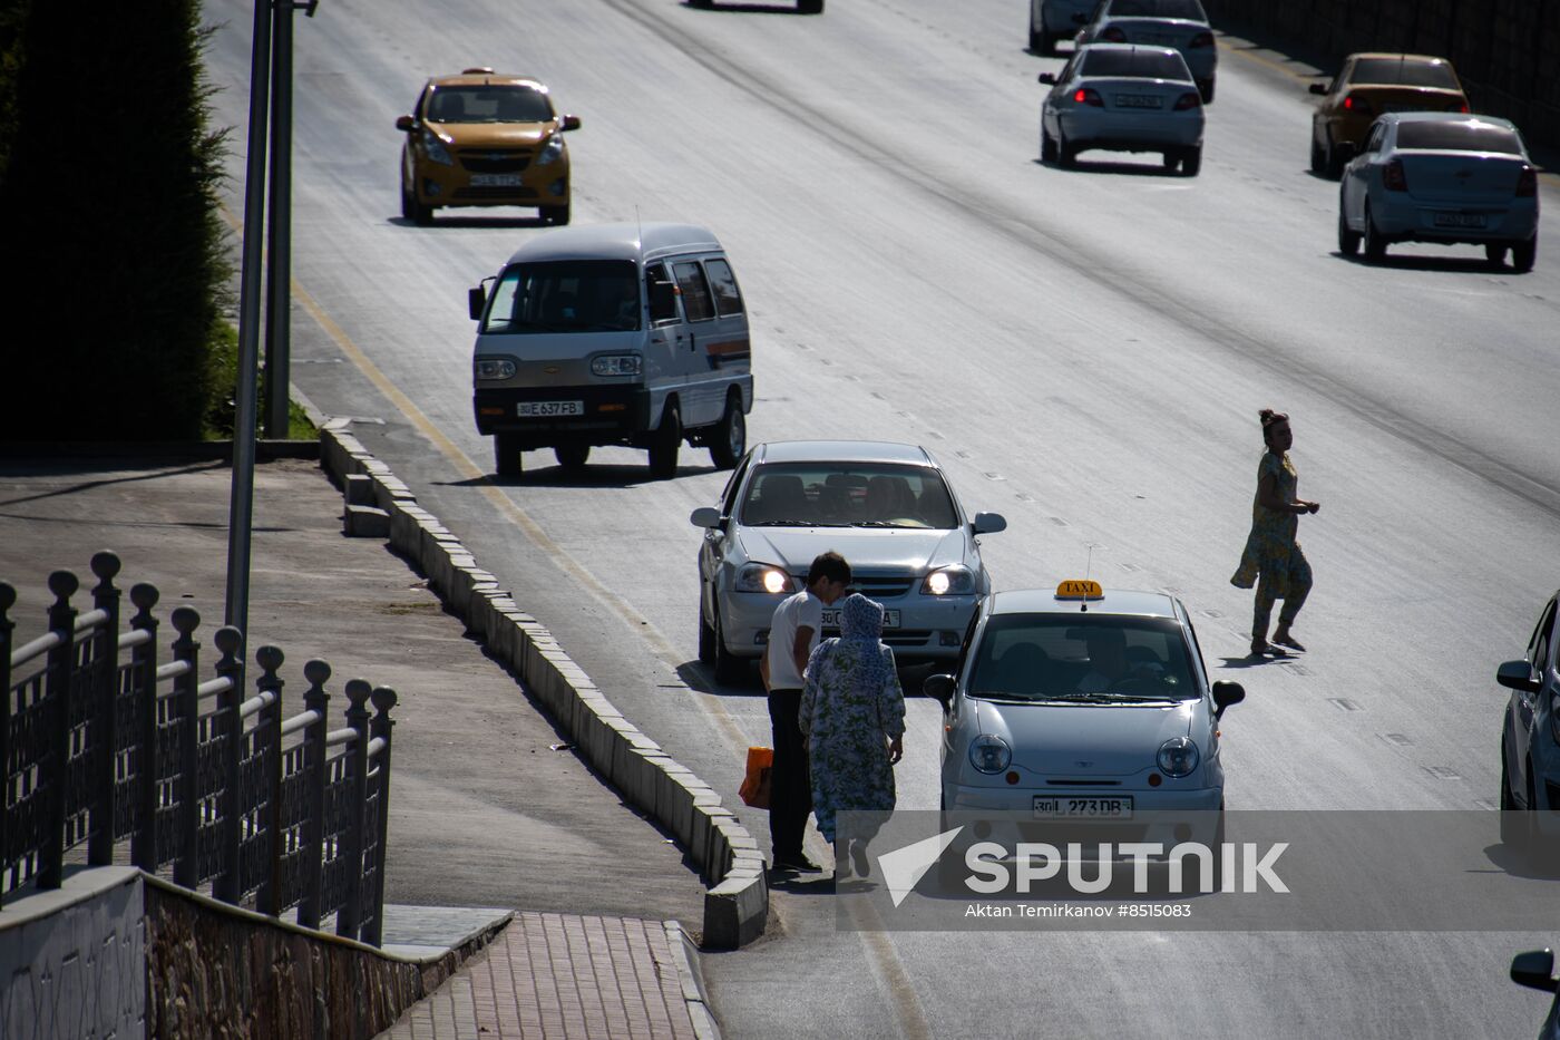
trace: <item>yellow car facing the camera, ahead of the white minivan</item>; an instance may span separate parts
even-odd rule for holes
[[[434,77],[410,116],[395,120],[401,147],[401,215],[427,225],[445,206],[535,206],[569,222],[569,150],[577,116],[558,116],[529,77],[466,69]]]

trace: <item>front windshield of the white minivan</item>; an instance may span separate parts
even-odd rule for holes
[[[640,328],[633,261],[516,264],[493,287],[484,333],[632,333]]]

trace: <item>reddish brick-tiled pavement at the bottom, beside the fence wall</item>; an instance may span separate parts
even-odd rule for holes
[[[519,912],[381,1040],[710,1040],[675,923]]]

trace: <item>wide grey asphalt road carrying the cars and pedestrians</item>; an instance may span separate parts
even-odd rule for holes
[[[218,122],[239,126],[250,8],[212,0]],[[395,117],[426,75],[548,81],[577,223],[679,219],[729,248],[753,319],[749,439],[925,443],[970,511],[1009,520],[998,587],[1179,595],[1218,678],[1231,809],[1493,807],[1502,695],[1560,584],[1560,248],[1530,275],[1468,247],[1334,251],[1337,184],[1306,169],[1304,67],[1225,39],[1203,173],[1037,162],[1058,59],[1019,3],[326,0],[298,20],[295,384],[359,436],[626,714],[736,804],[768,743],[757,686],[696,661],[704,451],[652,483],[596,450],[493,486],[471,422],[465,289],[540,228],[529,211],[399,219]],[[1555,206],[1554,181],[1543,203]],[[1260,454],[1293,417],[1317,589],[1298,662],[1245,667],[1232,589]],[[1342,701],[1342,704],[1340,704]],[[911,704],[902,804],[936,804],[934,706]],[[766,837],[761,814],[749,820]],[[451,876],[459,885],[459,878]],[[1340,879],[1346,884],[1346,879]],[[1510,954],[1560,921],[1477,934],[875,934],[782,892],[774,937],[705,959],[727,1035],[1521,1035],[1543,999]],[[805,998],[805,999],[803,999]]]

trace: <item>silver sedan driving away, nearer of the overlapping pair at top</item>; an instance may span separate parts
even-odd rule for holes
[[[1168,47],[1089,44],[1056,75],[1041,105],[1041,159],[1072,167],[1080,151],[1159,151],[1167,170],[1203,169],[1203,98]]]

